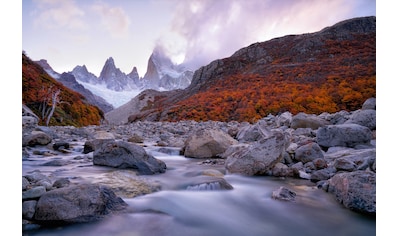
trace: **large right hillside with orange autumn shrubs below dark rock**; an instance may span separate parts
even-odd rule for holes
[[[376,17],[372,16],[242,48],[201,67],[188,88],[159,96],[151,109],[135,112],[130,121],[252,122],[285,111],[356,110],[375,96]]]

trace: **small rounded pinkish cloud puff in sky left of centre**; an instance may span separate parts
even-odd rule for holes
[[[128,34],[130,20],[122,8],[98,3],[93,5],[92,9],[100,15],[102,26],[111,36],[122,38]]]

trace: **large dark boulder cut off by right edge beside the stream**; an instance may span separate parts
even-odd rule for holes
[[[343,172],[329,180],[328,192],[353,211],[376,214],[376,174],[369,171]]]

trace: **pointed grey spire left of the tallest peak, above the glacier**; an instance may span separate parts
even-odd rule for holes
[[[119,68],[116,68],[114,59],[108,58],[98,79],[106,84],[107,88],[115,91],[137,89],[133,79],[129,78]]]

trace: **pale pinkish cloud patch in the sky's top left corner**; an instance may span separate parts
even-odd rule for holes
[[[34,25],[46,29],[86,30],[84,11],[73,0],[34,0]]]

